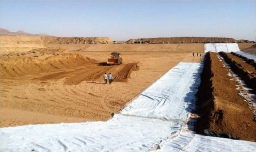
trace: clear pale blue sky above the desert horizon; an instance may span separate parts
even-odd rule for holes
[[[255,40],[255,1],[3,1],[0,27],[37,34]]]

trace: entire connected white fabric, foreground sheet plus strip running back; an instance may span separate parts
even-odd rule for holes
[[[182,131],[185,125],[181,120],[186,119],[188,111],[194,107],[193,102],[189,102],[195,98],[194,94],[197,91],[195,86],[200,81],[198,80],[199,74],[196,72],[200,70],[199,66],[199,63],[179,63],[143,91],[147,93],[147,96],[154,98],[148,101],[151,104],[141,101],[141,104],[145,104],[144,109],[138,105],[136,108],[139,108],[139,114],[150,113],[150,116],[156,118],[136,115],[138,112],[130,106],[133,104],[131,102],[127,107],[132,108],[132,114],[136,116],[114,114],[114,117],[106,122],[0,128],[0,151],[147,152],[153,149],[165,152],[254,151],[256,147],[254,142],[202,136]],[[152,94],[148,94],[149,92]],[[141,97],[144,96],[141,94],[138,98]],[[135,99],[135,103],[136,100],[138,99]],[[174,112],[168,110],[167,107]],[[150,112],[146,113],[147,110]],[[129,110],[126,112],[129,114]],[[158,118],[163,118],[163,120]],[[172,118],[176,121],[166,121],[164,118]]]

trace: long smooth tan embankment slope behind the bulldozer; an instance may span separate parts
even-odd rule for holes
[[[204,44],[46,44],[79,52],[204,52]],[[110,54],[109,53],[109,54]],[[158,54],[156,54],[157,56]]]

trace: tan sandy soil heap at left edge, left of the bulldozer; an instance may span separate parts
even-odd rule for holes
[[[93,60],[80,54],[62,54],[45,59],[22,56],[20,58],[1,57],[1,78],[14,79],[16,76],[36,74],[42,71],[61,69],[92,62]]]

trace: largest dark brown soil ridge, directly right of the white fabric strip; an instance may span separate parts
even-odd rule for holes
[[[228,76],[229,71],[217,53],[205,55],[201,84],[197,93],[198,114],[196,132],[205,129],[234,138],[255,141],[255,119],[244,99],[238,95],[237,82]]]

